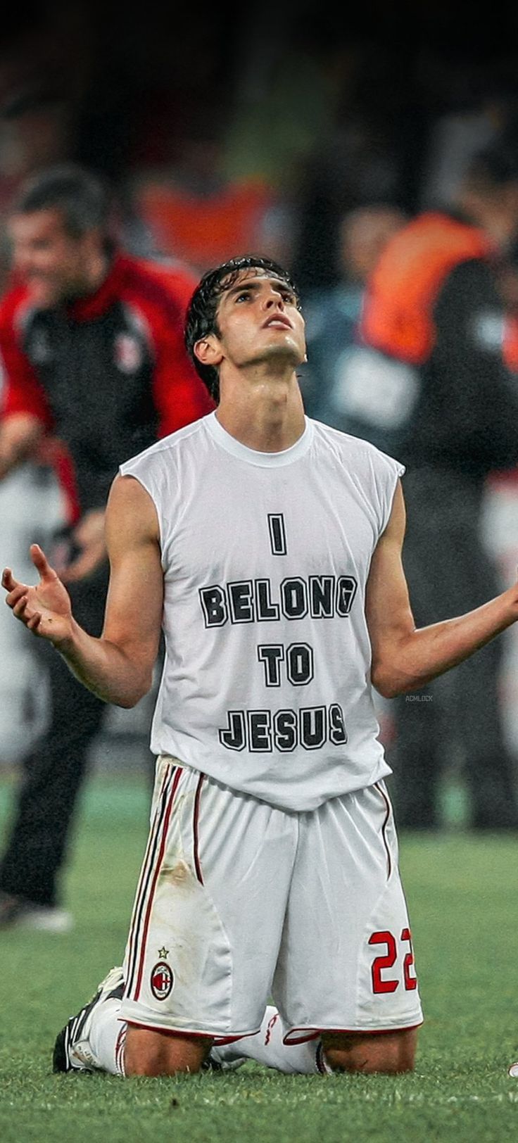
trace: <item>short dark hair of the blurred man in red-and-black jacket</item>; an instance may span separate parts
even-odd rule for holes
[[[82,238],[89,230],[109,230],[111,197],[107,186],[78,163],[48,167],[29,178],[15,198],[10,214],[59,210],[71,238]]]

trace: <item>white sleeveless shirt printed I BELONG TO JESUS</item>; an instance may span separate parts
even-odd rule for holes
[[[390,774],[365,589],[404,471],[309,418],[292,448],[257,453],[214,413],[120,466],[160,527],[153,753],[288,810]]]

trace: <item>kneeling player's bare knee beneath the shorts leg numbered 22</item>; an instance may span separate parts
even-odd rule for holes
[[[322,1036],[328,1066],[338,1072],[381,1072],[395,1074],[413,1071],[416,1049],[415,1029],[370,1036]]]

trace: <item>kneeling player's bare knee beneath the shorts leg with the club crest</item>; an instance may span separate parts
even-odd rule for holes
[[[128,1028],[125,1047],[126,1076],[177,1076],[198,1072],[212,1040],[188,1039],[150,1029]]]

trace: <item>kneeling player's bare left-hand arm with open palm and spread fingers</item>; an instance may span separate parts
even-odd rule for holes
[[[30,631],[54,644],[89,690],[117,706],[134,706],[148,693],[158,654],[164,599],[158,520],[151,497],[132,477],[117,477],[106,507],[110,588],[103,633],[89,636],[72,615],[69,593],[33,544],[40,581],[2,575],[6,602]]]

